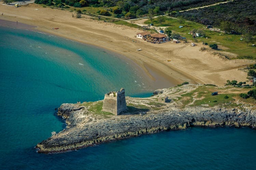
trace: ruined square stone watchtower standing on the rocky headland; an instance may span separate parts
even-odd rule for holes
[[[125,89],[121,88],[120,91],[105,94],[102,111],[118,115],[126,109]]]

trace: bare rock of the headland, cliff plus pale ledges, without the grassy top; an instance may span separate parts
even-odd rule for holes
[[[162,90],[163,94],[167,94]],[[154,98],[150,100],[154,101]],[[129,98],[127,103],[145,101]],[[163,104],[162,104],[163,105]],[[177,108],[164,104],[159,109],[145,109],[129,114],[103,115],[90,112],[91,105],[62,104],[58,115],[67,119],[67,128],[37,144],[39,153],[55,153],[75,150],[109,140],[123,139],[160,130],[184,129],[189,126],[256,126],[256,112],[225,107]],[[134,109],[134,108],[130,108]],[[136,114],[135,114],[136,113]]]

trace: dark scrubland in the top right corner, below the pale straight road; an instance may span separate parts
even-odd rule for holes
[[[182,13],[173,13],[172,16],[180,17],[204,25],[213,25],[226,32],[231,30],[237,33],[256,34],[256,1],[255,0],[236,0],[224,4],[218,4],[190,10]],[[235,33],[235,32],[234,32]]]

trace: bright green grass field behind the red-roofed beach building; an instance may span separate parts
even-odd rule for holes
[[[223,32],[211,31],[205,28],[204,25],[191,22],[191,21],[181,21],[179,19],[174,19],[170,17],[166,17],[166,21],[160,25],[157,21],[157,18],[153,19],[153,24],[155,27],[171,27],[171,30],[174,33],[179,33],[181,36],[186,37],[187,40],[195,41],[191,34],[188,34],[193,29],[202,29],[205,32],[205,37],[197,37],[196,40],[200,42],[206,42],[208,44],[217,44],[224,46],[226,48],[220,47],[220,50],[224,50],[227,52],[235,53],[239,56],[239,58],[246,58],[246,56],[250,59],[256,59],[256,47],[252,46],[252,43],[247,44],[240,38],[242,35],[232,35],[232,34],[225,34]],[[151,20],[147,20],[144,24],[150,24]],[[183,28],[179,28],[179,26],[183,26]],[[256,38],[256,37],[255,37]],[[254,43],[255,44],[255,43]],[[217,50],[216,50],[217,51]],[[231,58],[232,59],[232,58]]]

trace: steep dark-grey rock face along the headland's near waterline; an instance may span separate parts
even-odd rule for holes
[[[70,106],[70,104],[68,104]],[[66,109],[64,109],[66,108]],[[61,105],[59,114],[72,110],[67,104]],[[76,111],[70,111],[67,121],[74,120]],[[63,115],[62,115],[63,116]],[[63,116],[64,117],[64,116]],[[81,120],[82,121],[82,120]],[[144,115],[121,115],[121,118],[89,122],[78,126],[77,122],[55,136],[40,142],[38,152],[53,153],[74,150],[89,145],[99,144],[144,133],[154,133],[159,130],[183,129],[189,126],[250,126],[255,127],[255,112],[230,110],[225,108],[188,108],[185,110],[170,110],[162,113],[151,112]],[[81,123],[79,121],[79,123]],[[70,124],[70,123],[69,123]]]

